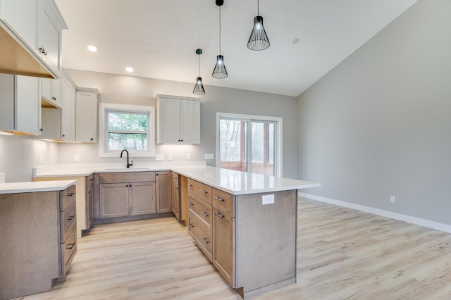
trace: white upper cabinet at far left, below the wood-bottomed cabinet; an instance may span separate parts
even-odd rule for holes
[[[39,78],[0,74],[0,130],[41,134]]]

